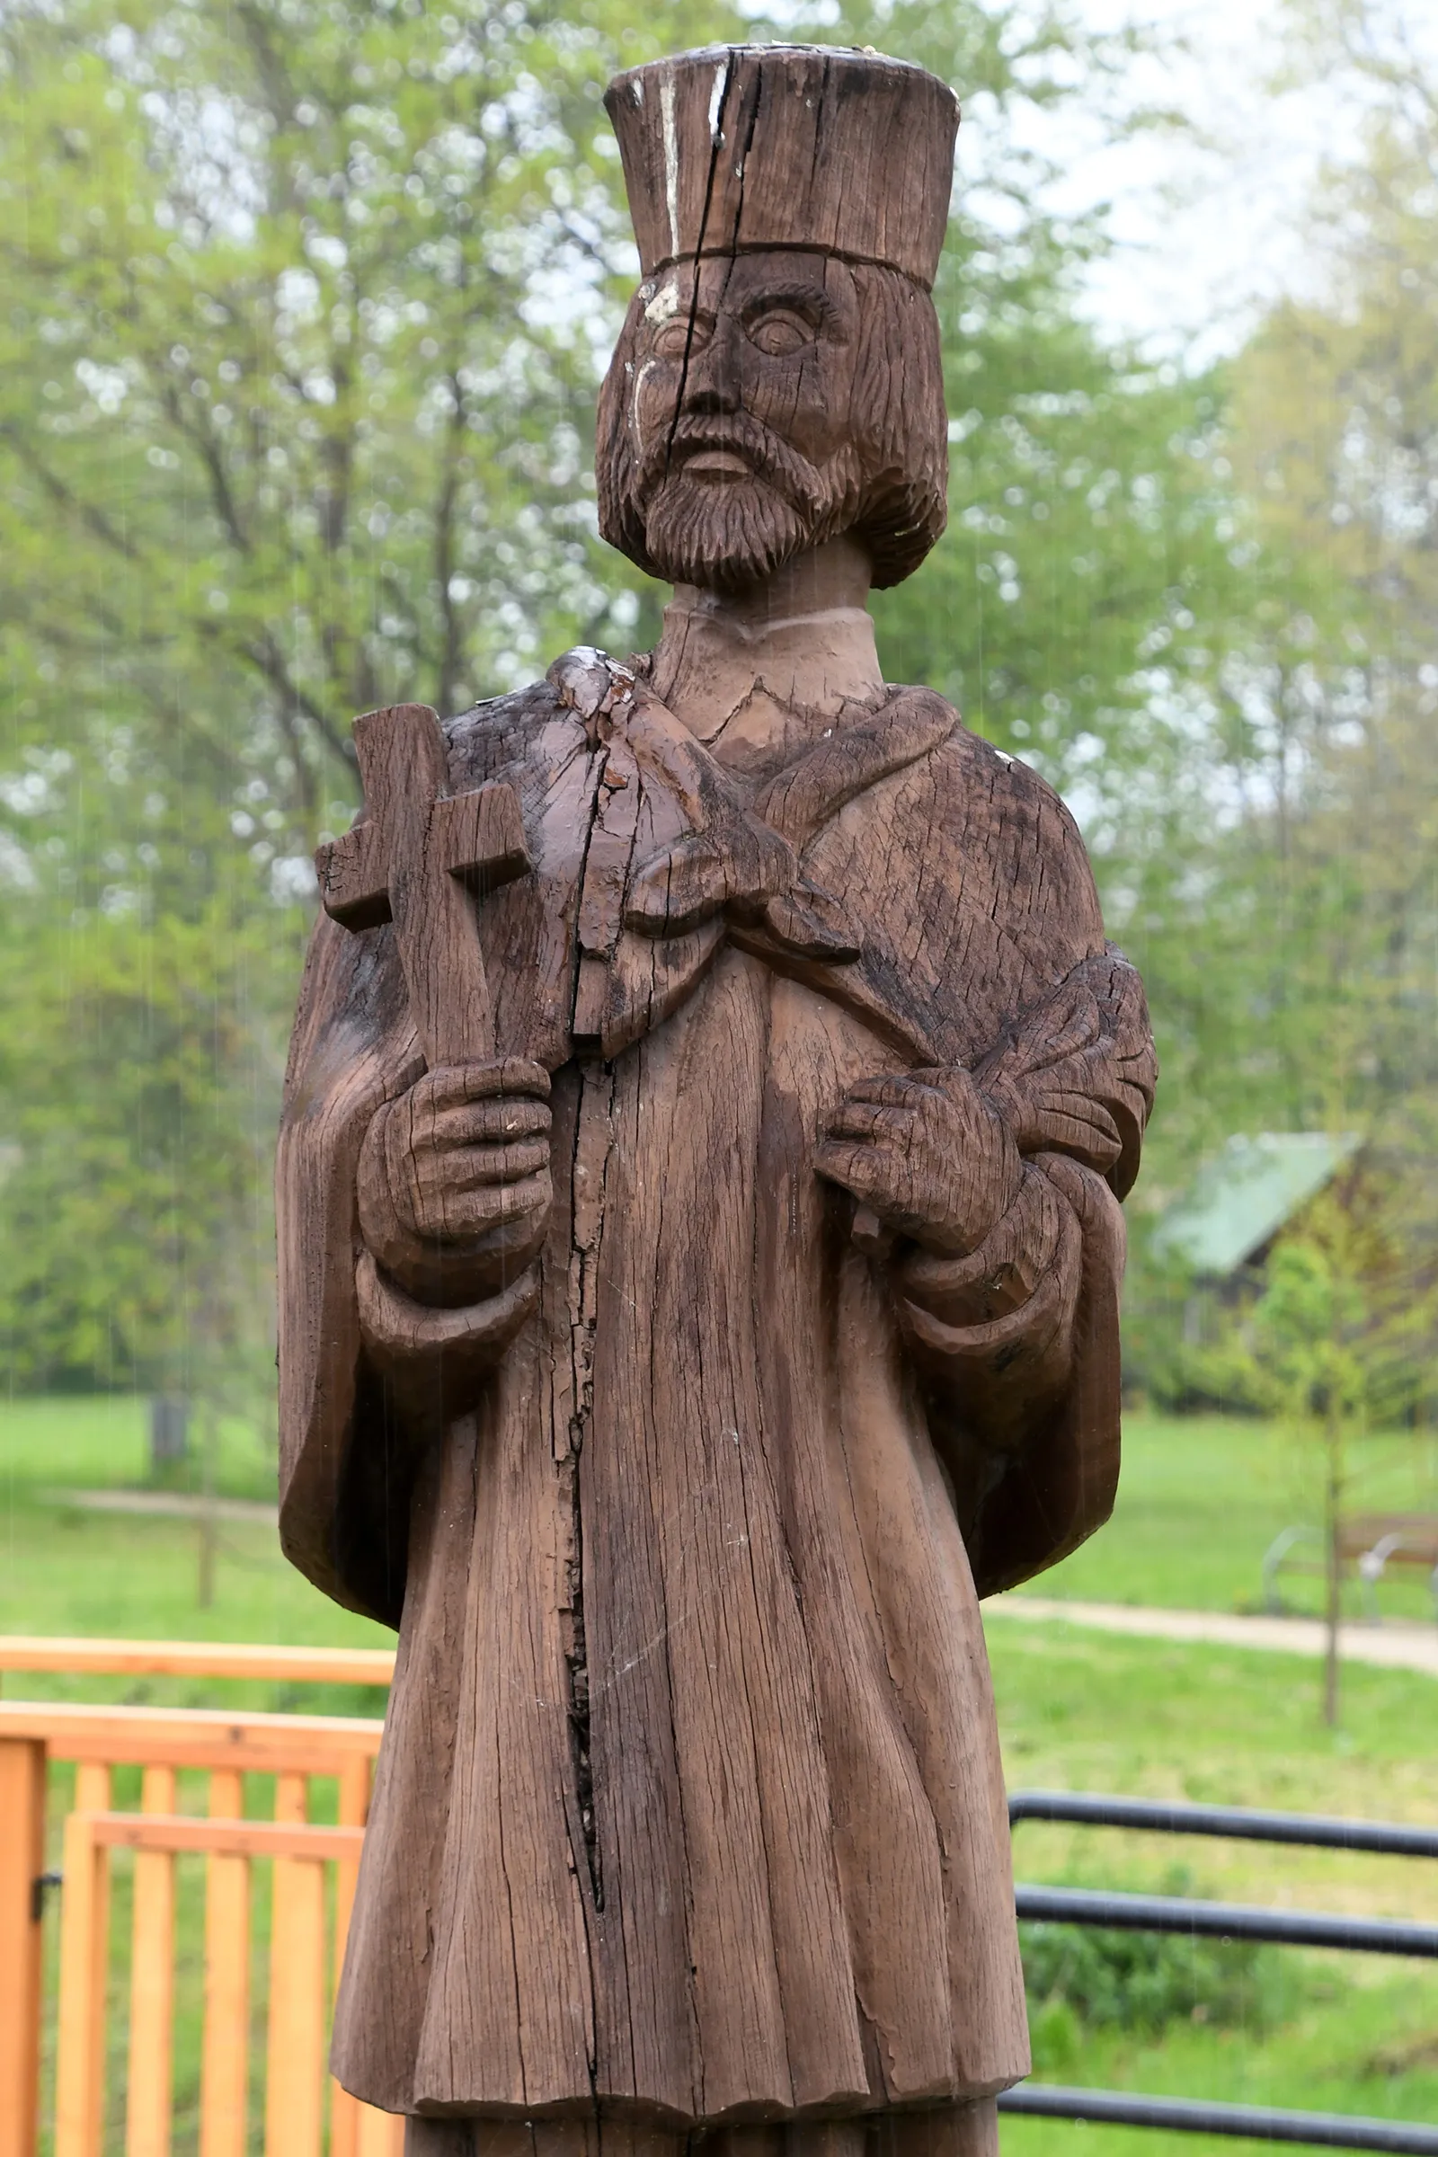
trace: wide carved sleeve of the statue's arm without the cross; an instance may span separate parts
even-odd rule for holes
[[[1024,1156],[968,1258],[910,1255],[899,1322],[929,1400],[979,1594],[1100,1527],[1119,1478],[1119,1199],[1156,1059],[1138,975],[1108,949],[1020,1014],[974,1068]]]

